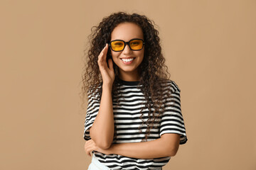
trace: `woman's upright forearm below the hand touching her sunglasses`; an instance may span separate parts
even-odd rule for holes
[[[107,149],[110,147],[114,137],[114,115],[112,106],[112,86],[102,86],[102,97],[100,108],[92,128],[90,128],[90,137],[97,146]]]

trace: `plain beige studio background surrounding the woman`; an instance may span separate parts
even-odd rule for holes
[[[0,1],[0,169],[80,169],[82,57],[112,12],[155,21],[188,142],[167,169],[256,169],[256,1]]]

